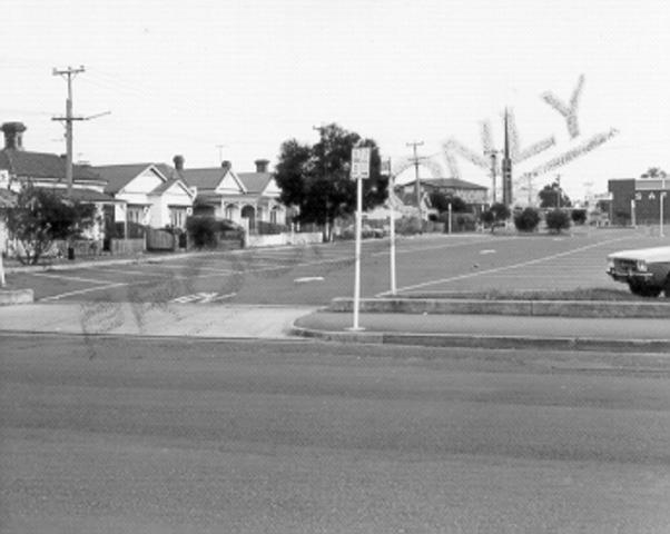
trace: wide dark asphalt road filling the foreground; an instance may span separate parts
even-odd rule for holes
[[[0,343],[0,532],[670,531],[662,356]]]

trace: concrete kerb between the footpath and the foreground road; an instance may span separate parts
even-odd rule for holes
[[[383,332],[328,332],[294,326],[292,334],[328,342],[376,345],[411,345],[433,348],[535,349],[670,354],[667,339],[601,339],[588,337],[470,336],[462,334],[412,334]]]

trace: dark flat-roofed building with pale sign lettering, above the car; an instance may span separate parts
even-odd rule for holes
[[[670,178],[619,178],[608,182],[610,218],[614,225],[658,225],[670,222]]]

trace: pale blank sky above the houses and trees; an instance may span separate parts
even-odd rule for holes
[[[667,0],[6,0],[0,121],[21,121],[27,150],[63,154],[72,80],[73,156],[91,165],[277,161],[287,139],[316,142],[337,122],[374,139],[394,167],[422,141],[420,177],[453,175],[445,144],[483,154],[482,121],[502,148],[503,112],[522,148],[554,145],[524,172],[594,136],[560,174],[571,198],[607,191],[649,167],[670,172],[670,7]],[[563,102],[583,76],[579,135],[542,95]],[[98,113],[106,113],[99,117]],[[462,179],[490,172],[455,156]],[[397,181],[414,179],[410,168]],[[528,191],[528,190],[526,190]],[[533,189],[531,189],[533,194]],[[526,195],[526,192],[523,192]]]

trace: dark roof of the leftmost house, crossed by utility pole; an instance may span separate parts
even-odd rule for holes
[[[56,154],[31,152],[28,150],[0,150],[0,169],[24,178],[65,179],[66,160]],[[92,167],[73,165],[72,179],[77,181],[101,181]]]

